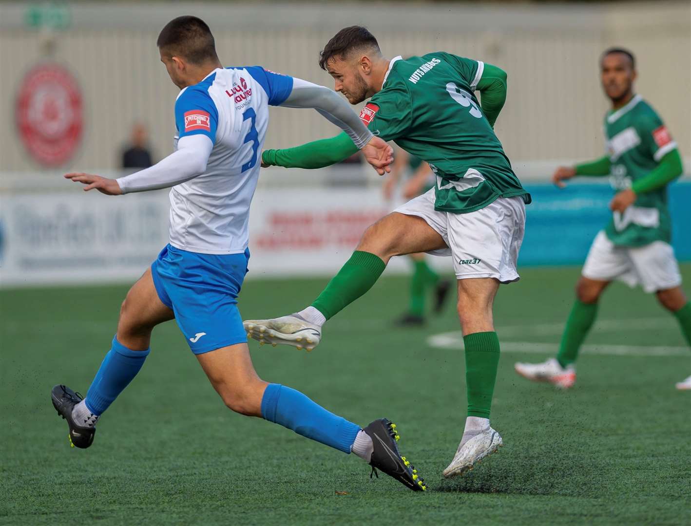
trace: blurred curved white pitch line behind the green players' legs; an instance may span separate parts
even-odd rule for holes
[[[463,333],[461,331],[432,335],[427,338],[427,343],[431,347],[438,347],[440,349],[464,349]],[[553,354],[559,350],[559,345],[556,343],[502,341],[500,344],[502,353]],[[688,356],[691,358],[691,351],[688,347],[656,345],[590,344],[583,346],[583,352],[616,356]]]

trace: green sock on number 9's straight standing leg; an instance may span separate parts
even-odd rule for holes
[[[466,348],[468,416],[489,418],[494,382],[499,365],[497,333],[473,333],[463,337]]]

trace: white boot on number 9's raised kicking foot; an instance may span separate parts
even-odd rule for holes
[[[321,326],[305,321],[301,316],[290,314],[271,320],[246,320],[243,327],[249,338],[260,344],[292,345],[298,351],[312,351],[321,340]]]

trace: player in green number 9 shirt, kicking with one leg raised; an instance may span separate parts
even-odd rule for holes
[[[493,131],[506,99],[507,76],[495,66],[442,51],[385,59],[377,39],[359,26],[339,31],[321,52],[320,65],[351,104],[371,97],[360,118],[382,139],[428,162],[435,188],[370,226],[312,305],[282,318],[247,320],[245,329],[260,342],[314,349],[324,322],[366,293],[391,257],[451,255],[468,411],[444,476],[462,474],[502,445],[489,422],[500,352],[492,305],[501,283],[518,280],[524,205],[530,202]],[[475,90],[482,93],[482,104]],[[263,164],[328,166],[353,153],[345,138],[267,150]]]

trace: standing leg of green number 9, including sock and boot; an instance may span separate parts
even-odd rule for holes
[[[492,306],[500,282],[491,277],[458,280],[458,316],[463,329],[466,358],[468,416],[445,477],[462,475],[503,445],[489,424],[499,362]]]

